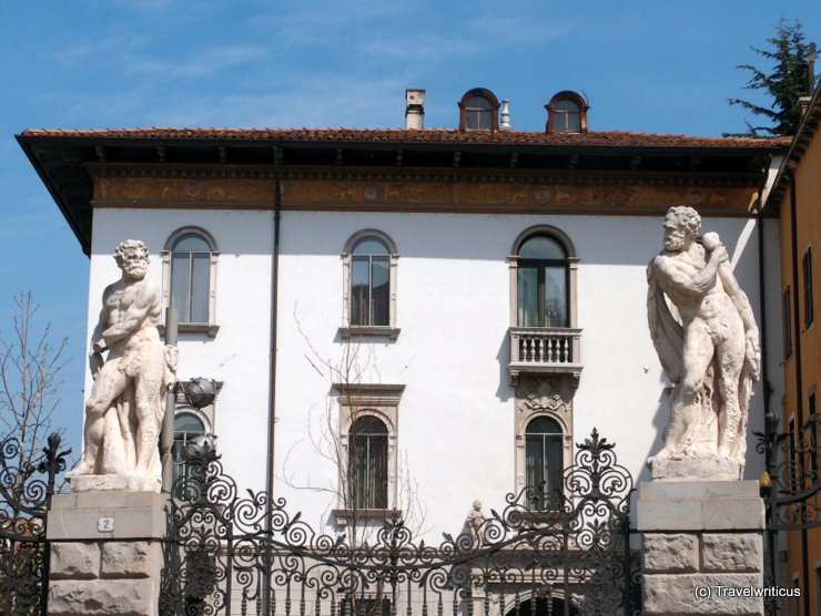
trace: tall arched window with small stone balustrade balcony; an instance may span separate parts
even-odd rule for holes
[[[508,261],[511,381],[523,371],[578,376],[578,258],[570,238],[556,227],[531,227],[516,239]]]

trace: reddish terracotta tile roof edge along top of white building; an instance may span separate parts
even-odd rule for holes
[[[622,147],[779,147],[789,137],[697,137],[628,131],[602,131],[586,134],[544,133],[537,131],[463,132],[456,129],[148,129],[28,130],[23,137],[81,137],[135,140],[275,140],[294,142],[358,143],[432,143],[432,144],[499,144],[499,145],[577,145]]]

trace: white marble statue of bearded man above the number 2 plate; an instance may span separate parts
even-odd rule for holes
[[[158,439],[164,393],[174,381],[176,349],[164,347],[156,329],[162,299],[146,277],[145,244],[126,239],[116,247],[114,259],[122,278],[103,291],[91,338],[94,384],[85,403],[83,456],[68,476],[74,490],[159,490]],[[97,481],[90,486],[84,481],[100,475],[109,478],[108,483]]]

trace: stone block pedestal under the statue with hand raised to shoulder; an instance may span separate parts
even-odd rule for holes
[[[653,476],[656,478],[656,469]],[[643,614],[764,614],[764,504],[757,481],[639,485]]]

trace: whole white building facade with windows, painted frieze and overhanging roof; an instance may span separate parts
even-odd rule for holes
[[[646,268],[668,207],[701,212],[759,324],[779,319],[778,223],[756,211],[778,144],[588,133],[584,113],[505,131],[472,123],[477,95],[458,130],[19,140],[90,256],[89,331],[114,247],[148,244],[181,311],[178,377],[219,388],[204,409],[180,399],[179,439],[215,434],[241,487],[328,530],[399,510],[435,541],[477,499],[503,509],[538,484],[529,506],[549,510],[594,428],[649,479],[669,383]],[[780,328],[762,332],[776,352],[751,430],[783,389]]]

